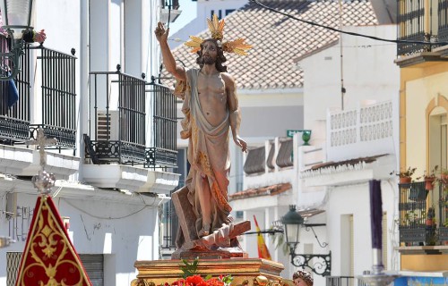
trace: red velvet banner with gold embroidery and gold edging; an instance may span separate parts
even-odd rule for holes
[[[15,285],[91,285],[51,197],[36,202]]]

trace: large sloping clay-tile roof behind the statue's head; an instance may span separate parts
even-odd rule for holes
[[[297,18],[338,28],[339,0],[262,0],[263,4]],[[375,25],[374,10],[368,0],[345,0],[345,26]],[[205,21],[205,19],[204,19]],[[209,38],[208,30],[199,35]],[[228,72],[237,80],[237,88],[300,88],[303,71],[294,65],[294,59],[313,52],[339,38],[339,33],[289,19],[250,2],[237,13],[226,17],[226,39],[246,38],[253,45],[249,55],[226,54]],[[196,55],[186,46],[178,46],[173,54],[186,64],[196,67]],[[165,73],[165,75],[167,75]],[[172,86],[173,81],[164,81]]]

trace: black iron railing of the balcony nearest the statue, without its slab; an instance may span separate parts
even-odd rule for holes
[[[147,113],[148,97],[151,110]],[[176,167],[175,98],[154,80],[147,83],[119,70],[91,72],[89,130],[84,134],[90,164]],[[147,114],[153,115],[150,144],[146,142]]]

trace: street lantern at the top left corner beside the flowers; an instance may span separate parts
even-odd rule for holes
[[[23,35],[32,30],[33,2],[34,0],[0,0],[2,28],[11,38],[10,51],[0,53],[0,59],[6,63],[8,69],[0,72],[0,80],[11,80],[20,71],[19,61],[25,47]]]

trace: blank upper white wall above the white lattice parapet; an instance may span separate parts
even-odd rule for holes
[[[344,30],[396,38],[395,25],[346,27]],[[344,109],[356,108],[364,100],[384,101],[398,97],[400,69],[393,63],[396,45],[368,38],[342,36]],[[324,120],[326,111],[341,108],[340,43],[299,62],[305,71],[305,128]],[[324,104],[323,104],[324,103]]]

